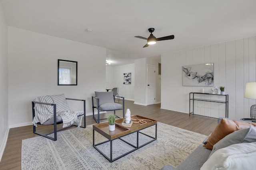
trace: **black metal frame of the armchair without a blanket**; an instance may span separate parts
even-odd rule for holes
[[[124,97],[120,97],[120,96],[113,96],[113,99],[114,99],[114,101],[115,101],[115,97],[119,97],[119,98],[122,98],[122,100],[123,100],[123,108],[122,109],[114,109],[114,110],[100,110],[100,104],[99,104],[99,102],[100,102],[100,99],[99,98],[97,98],[96,96],[92,96],[92,115],[93,115],[93,118],[94,118],[94,120],[97,122],[97,123],[100,123],[100,120],[104,120],[104,119],[107,119],[107,118],[102,118],[102,119],[100,119],[100,111],[114,111],[114,115],[116,115],[116,110],[123,110],[123,117],[122,118],[124,118]],[[94,99],[96,99],[96,103],[97,103],[97,106],[94,106]],[[97,110],[98,110],[98,117],[97,117],[97,119],[96,119],[96,117],[94,116],[94,108],[97,108]],[[116,115],[117,117],[119,117],[118,115]],[[119,118],[121,118],[121,117],[119,117]]]

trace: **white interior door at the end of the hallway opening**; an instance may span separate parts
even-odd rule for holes
[[[156,66],[147,64],[147,105],[155,104]]]

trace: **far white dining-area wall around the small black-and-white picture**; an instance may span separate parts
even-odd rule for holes
[[[123,84],[124,73],[132,73],[132,83]],[[134,64],[126,64],[122,66],[106,66],[106,87],[118,87],[119,96],[124,97],[125,100],[134,101],[134,85],[135,85]]]

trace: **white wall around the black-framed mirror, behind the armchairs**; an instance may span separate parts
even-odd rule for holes
[[[57,86],[58,59],[78,62],[78,86]],[[8,27],[9,127],[32,124],[31,101],[37,96],[62,94],[86,100],[105,90],[106,49],[41,33]],[[71,104],[82,110],[82,102]]]

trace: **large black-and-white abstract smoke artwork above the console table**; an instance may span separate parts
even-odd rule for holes
[[[214,86],[213,63],[182,66],[182,86]]]

